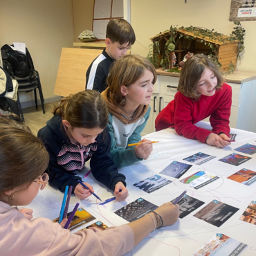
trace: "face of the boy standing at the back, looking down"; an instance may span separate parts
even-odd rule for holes
[[[109,38],[105,40],[105,43],[107,54],[114,60],[119,60],[122,56],[126,55],[128,48],[131,47],[129,42],[125,44],[113,43]]]

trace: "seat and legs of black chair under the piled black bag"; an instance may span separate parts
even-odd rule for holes
[[[18,84],[19,84],[19,88],[18,88],[18,107],[19,107],[19,113],[21,115],[21,118],[24,120],[24,116],[23,116],[23,111],[21,109],[21,102],[19,101],[19,93],[28,93],[30,91],[34,91],[34,95],[35,95],[35,107],[37,109],[37,89],[39,91],[39,96],[40,96],[40,100],[41,100],[41,104],[42,104],[42,110],[43,113],[46,113],[44,111],[44,96],[43,96],[43,92],[42,92],[42,86],[41,86],[41,82],[40,82],[40,77],[39,77],[39,73],[37,71],[33,71],[35,77],[30,78],[30,76],[28,77],[17,77],[15,76],[15,80],[17,80]],[[25,120],[24,120],[25,121]]]

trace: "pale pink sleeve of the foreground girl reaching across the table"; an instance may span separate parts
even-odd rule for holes
[[[128,225],[97,233],[86,229],[73,234],[45,218],[23,219],[18,224],[25,230],[18,241],[21,255],[121,256],[134,248],[134,232]]]

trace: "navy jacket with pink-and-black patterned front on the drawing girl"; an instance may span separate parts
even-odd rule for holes
[[[76,176],[91,159],[91,173],[109,189],[114,190],[118,182],[125,183],[125,175],[118,173],[113,163],[110,147],[111,138],[105,129],[99,134],[95,143],[88,146],[71,143],[62,125],[59,115],[48,120],[47,125],[38,131],[37,136],[43,140],[50,155],[48,165],[49,183],[64,192],[66,185],[73,185],[73,191],[80,176]]]

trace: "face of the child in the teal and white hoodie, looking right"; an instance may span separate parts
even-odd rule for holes
[[[134,104],[148,105],[154,91],[154,75],[151,71],[145,69],[143,75],[134,84],[130,86],[122,86],[121,92],[125,95],[126,102]],[[129,104],[129,103],[128,103]]]

